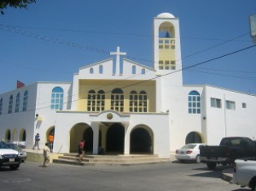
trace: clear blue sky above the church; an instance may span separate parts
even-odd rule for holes
[[[183,67],[254,45],[255,0],[38,0],[0,15],[0,93],[16,80],[72,81],[117,46],[152,67],[152,20],[162,12],[179,18]],[[256,47],[183,71],[183,84],[256,94]]]

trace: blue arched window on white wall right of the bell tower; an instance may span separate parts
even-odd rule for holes
[[[188,113],[201,114],[201,97],[196,91],[188,93]]]

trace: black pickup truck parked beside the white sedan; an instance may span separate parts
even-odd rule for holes
[[[232,164],[236,158],[256,156],[256,142],[248,137],[224,137],[219,145],[202,145],[200,158],[210,170]]]

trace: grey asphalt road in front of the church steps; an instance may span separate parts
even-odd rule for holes
[[[223,168],[205,164],[161,163],[130,167],[77,167],[21,163],[19,170],[0,168],[1,191],[245,191],[220,178]]]

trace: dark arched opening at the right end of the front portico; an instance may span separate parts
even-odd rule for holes
[[[152,138],[145,128],[135,128],[130,133],[130,154],[151,154]]]

